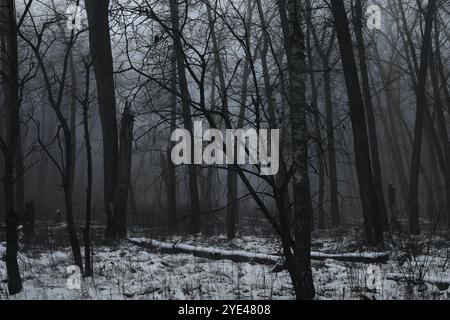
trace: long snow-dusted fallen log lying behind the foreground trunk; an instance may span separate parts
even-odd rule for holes
[[[214,259],[214,260],[231,260],[233,262],[249,262],[266,265],[276,265],[277,270],[280,264],[283,265],[282,257],[278,255],[270,255],[263,253],[251,253],[241,250],[222,250],[216,248],[207,248],[194,246],[183,243],[168,243],[147,238],[131,238],[129,242],[144,248],[157,249],[163,253],[187,253],[196,257]],[[332,259],[336,261],[360,262],[360,263],[385,263],[389,259],[386,253],[343,253],[329,254],[322,252],[311,252],[313,260]],[[281,268],[283,269],[283,267]]]

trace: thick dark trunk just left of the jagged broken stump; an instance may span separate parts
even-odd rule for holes
[[[114,92],[113,59],[109,34],[109,0],[86,0],[89,44],[97,83],[97,99],[103,134],[104,203],[106,238],[114,239],[114,203],[118,173],[118,130]]]

